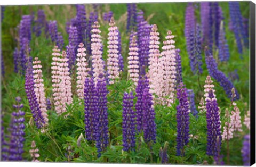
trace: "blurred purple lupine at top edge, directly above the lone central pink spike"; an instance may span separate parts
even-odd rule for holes
[[[134,30],[136,27],[136,18],[137,18],[137,5],[136,4],[127,4],[127,27],[126,32]]]

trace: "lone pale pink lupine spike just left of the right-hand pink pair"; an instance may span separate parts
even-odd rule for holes
[[[132,37],[132,41],[130,41],[129,46],[129,57],[128,57],[128,72],[129,77],[134,81],[134,84],[137,85],[139,80],[139,48],[137,46],[136,37]]]

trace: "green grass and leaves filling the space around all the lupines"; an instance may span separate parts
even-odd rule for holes
[[[195,103],[198,106],[201,97],[203,97],[204,80],[208,74],[204,54],[203,56],[203,74],[201,76],[194,76],[189,67],[189,58],[186,51],[186,40],[184,37],[184,18],[187,3],[143,3],[138,4],[138,8],[145,12],[145,16],[150,24],[156,23],[160,32],[161,43],[164,40],[167,30],[171,30],[175,35],[175,46],[181,49],[182,60],[182,76],[183,82],[188,89],[193,89],[195,92]],[[198,4],[197,4],[198,5]],[[237,106],[241,110],[242,120],[244,114],[247,112],[249,106],[249,50],[246,50],[243,55],[239,55],[233,32],[228,30],[229,9],[227,2],[220,3],[223,14],[225,16],[225,30],[227,34],[228,45],[230,49],[229,62],[219,62],[217,53],[214,57],[218,61],[219,70],[226,75],[228,72],[238,69],[239,81],[234,81],[241,99],[237,102]],[[148,146],[143,141],[143,134],[136,136],[136,151],[124,152],[122,150],[122,99],[124,92],[133,91],[135,95],[135,86],[131,80],[127,79],[127,51],[129,44],[129,35],[126,34],[126,4],[105,4],[100,6],[100,12],[107,11],[108,7],[114,12],[116,24],[122,36],[122,49],[124,57],[125,70],[121,74],[121,78],[113,85],[107,87],[108,89],[108,120],[109,120],[109,146],[100,158],[97,158],[97,148],[95,143],[85,139],[84,128],[84,102],[79,100],[77,96],[73,97],[73,104],[67,105],[67,112],[58,116],[54,111],[54,107],[48,111],[49,126],[47,130],[42,133],[38,130],[33,122],[32,114],[29,109],[28,100],[26,97],[24,84],[25,77],[13,72],[12,53],[14,47],[17,46],[17,25],[20,22],[21,15],[29,14],[30,11],[36,12],[38,9],[44,9],[47,20],[57,20],[58,29],[62,32],[65,44],[68,43],[68,35],[65,31],[65,23],[70,18],[75,16],[75,7],[73,5],[44,5],[44,6],[6,6],[4,13],[4,20],[2,24],[2,48],[5,63],[6,77],[2,79],[2,113],[4,114],[4,127],[9,126],[12,105],[15,102],[15,97],[22,98],[21,103],[24,104],[24,111],[26,112],[26,141],[25,153],[23,158],[31,160],[29,149],[31,148],[31,141],[35,140],[39,148],[40,161],[49,162],[111,162],[111,163],[160,163],[159,148],[163,147],[165,142],[169,143],[167,154],[169,155],[169,163],[171,164],[202,164],[207,161],[209,164],[213,163],[213,158],[206,155],[206,118],[205,113],[199,113],[198,118],[190,114],[190,138],[188,146],[185,148],[185,157],[176,156],[176,136],[177,136],[177,122],[176,122],[176,106],[178,101],[171,107],[155,105],[156,125],[157,125],[157,140],[156,143]],[[86,5],[87,13],[92,8],[91,5]],[[249,3],[241,2],[242,14],[249,17]],[[196,10],[197,15],[199,9]],[[101,16],[102,18],[102,16]],[[104,44],[103,59],[107,58],[107,32],[108,24],[100,20],[102,39]],[[45,92],[48,98],[52,99],[52,82],[51,82],[51,62],[52,62],[52,48],[50,38],[45,38],[44,34],[40,37],[33,35],[31,40],[31,56],[39,57],[43,66],[43,78],[45,85]],[[240,59],[242,56],[243,59]],[[225,91],[220,85],[215,82],[215,90],[217,94],[218,104],[221,108],[222,127],[225,123],[225,108],[229,108],[230,99],[227,98]],[[74,85],[73,85],[74,86]],[[134,99],[134,103],[137,99]],[[247,103],[247,106],[244,104]],[[64,116],[69,114],[67,118]],[[249,133],[245,127],[243,132],[237,133],[229,141],[230,145],[230,164],[241,165],[241,148],[243,136]],[[78,138],[80,141],[78,142]],[[221,154],[224,155],[224,161],[227,163],[227,143],[222,142]]]

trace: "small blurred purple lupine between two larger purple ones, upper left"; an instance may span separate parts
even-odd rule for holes
[[[34,32],[36,33],[36,36],[39,37],[42,32],[42,28],[45,28],[46,30],[46,18],[44,14],[44,10],[40,9],[37,11],[37,20],[35,20],[35,26],[34,26]],[[46,33],[45,33],[46,34]]]

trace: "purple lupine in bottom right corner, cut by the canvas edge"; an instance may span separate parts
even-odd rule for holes
[[[250,135],[244,136],[243,148],[241,152],[244,166],[250,166]]]

